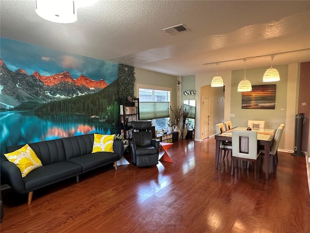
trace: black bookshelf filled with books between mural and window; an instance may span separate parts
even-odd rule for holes
[[[131,122],[139,120],[139,98],[120,104],[120,129],[124,139],[132,138]]]

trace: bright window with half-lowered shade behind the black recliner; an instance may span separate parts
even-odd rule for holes
[[[170,96],[170,90],[139,87],[140,120],[153,119],[156,130],[168,128]]]

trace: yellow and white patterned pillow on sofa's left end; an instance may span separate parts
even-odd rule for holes
[[[22,177],[25,177],[35,168],[42,166],[40,159],[28,144],[18,150],[4,155],[10,162],[14,163],[19,168]]]

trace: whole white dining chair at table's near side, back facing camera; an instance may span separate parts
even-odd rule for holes
[[[258,175],[258,165],[260,151],[257,150],[257,131],[233,130],[232,133],[232,172],[237,168],[237,160],[254,162],[254,179]],[[258,152],[257,152],[258,151]]]

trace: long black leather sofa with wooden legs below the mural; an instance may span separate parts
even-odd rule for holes
[[[117,170],[116,161],[121,159],[124,152],[123,142],[114,140],[114,152],[92,153],[93,135],[92,133],[29,143],[28,145],[34,150],[43,166],[32,170],[24,178],[19,168],[1,154],[1,178],[4,176],[17,193],[28,193],[28,204],[30,204],[33,191],[36,189],[74,176],[77,177],[78,182],[80,174],[108,164],[114,163]],[[13,152],[23,146],[9,146],[6,151]]]

